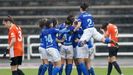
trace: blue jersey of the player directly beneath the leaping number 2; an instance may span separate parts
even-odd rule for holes
[[[73,48],[76,48],[78,42],[75,42],[76,39],[80,39],[83,34],[82,28],[79,28],[76,32],[74,32],[74,40],[73,40]]]

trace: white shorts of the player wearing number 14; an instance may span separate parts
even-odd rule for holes
[[[57,62],[61,60],[59,51],[56,48],[47,48],[48,61]]]

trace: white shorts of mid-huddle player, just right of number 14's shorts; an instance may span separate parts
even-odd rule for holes
[[[73,59],[73,46],[61,46],[60,50],[61,58],[63,59]]]

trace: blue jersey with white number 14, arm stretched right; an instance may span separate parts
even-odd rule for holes
[[[69,32],[69,31],[67,31],[66,29],[59,30],[55,28],[43,29],[40,35],[41,46],[45,48],[49,47],[58,48],[56,42],[56,34]]]

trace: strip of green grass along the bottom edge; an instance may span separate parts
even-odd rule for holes
[[[22,69],[25,75],[37,75],[37,69]],[[124,75],[133,75],[133,68],[122,68],[122,72]],[[107,69],[106,68],[95,68],[96,75],[106,75]],[[0,69],[0,75],[11,75],[10,69]],[[45,74],[47,75],[47,73]],[[63,75],[65,73],[63,72]],[[77,75],[76,69],[73,69],[71,75]],[[113,69],[111,75],[119,75],[115,69]]]

